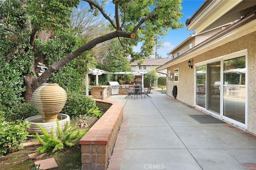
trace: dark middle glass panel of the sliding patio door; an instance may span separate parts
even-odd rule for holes
[[[207,109],[220,114],[220,61],[207,64]]]

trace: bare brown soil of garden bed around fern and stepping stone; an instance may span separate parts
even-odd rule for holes
[[[97,117],[90,117],[86,123],[88,127],[92,127],[94,123],[98,120]],[[72,123],[72,122],[71,122]],[[79,127],[79,129],[85,129]],[[4,154],[0,162],[0,169],[2,170],[31,170],[34,166],[34,161],[43,160],[48,158],[55,158],[58,168],[54,168],[54,170],[81,170],[81,147],[80,145],[71,148],[65,148],[63,150],[59,150],[54,154],[47,153],[44,154],[40,158],[31,159],[28,157],[29,154],[36,152],[36,149],[40,147],[40,145],[29,145],[32,143],[32,139],[27,139],[24,143],[28,144],[24,149],[18,150],[13,149],[12,152]]]

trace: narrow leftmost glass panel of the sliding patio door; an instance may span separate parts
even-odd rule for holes
[[[206,104],[206,65],[196,67],[196,105]]]

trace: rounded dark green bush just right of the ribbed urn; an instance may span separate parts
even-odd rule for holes
[[[90,114],[100,116],[100,112],[102,111],[92,98],[81,93],[73,93],[68,94],[66,105],[60,113],[64,113],[72,118],[76,118],[79,117],[79,115]]]

